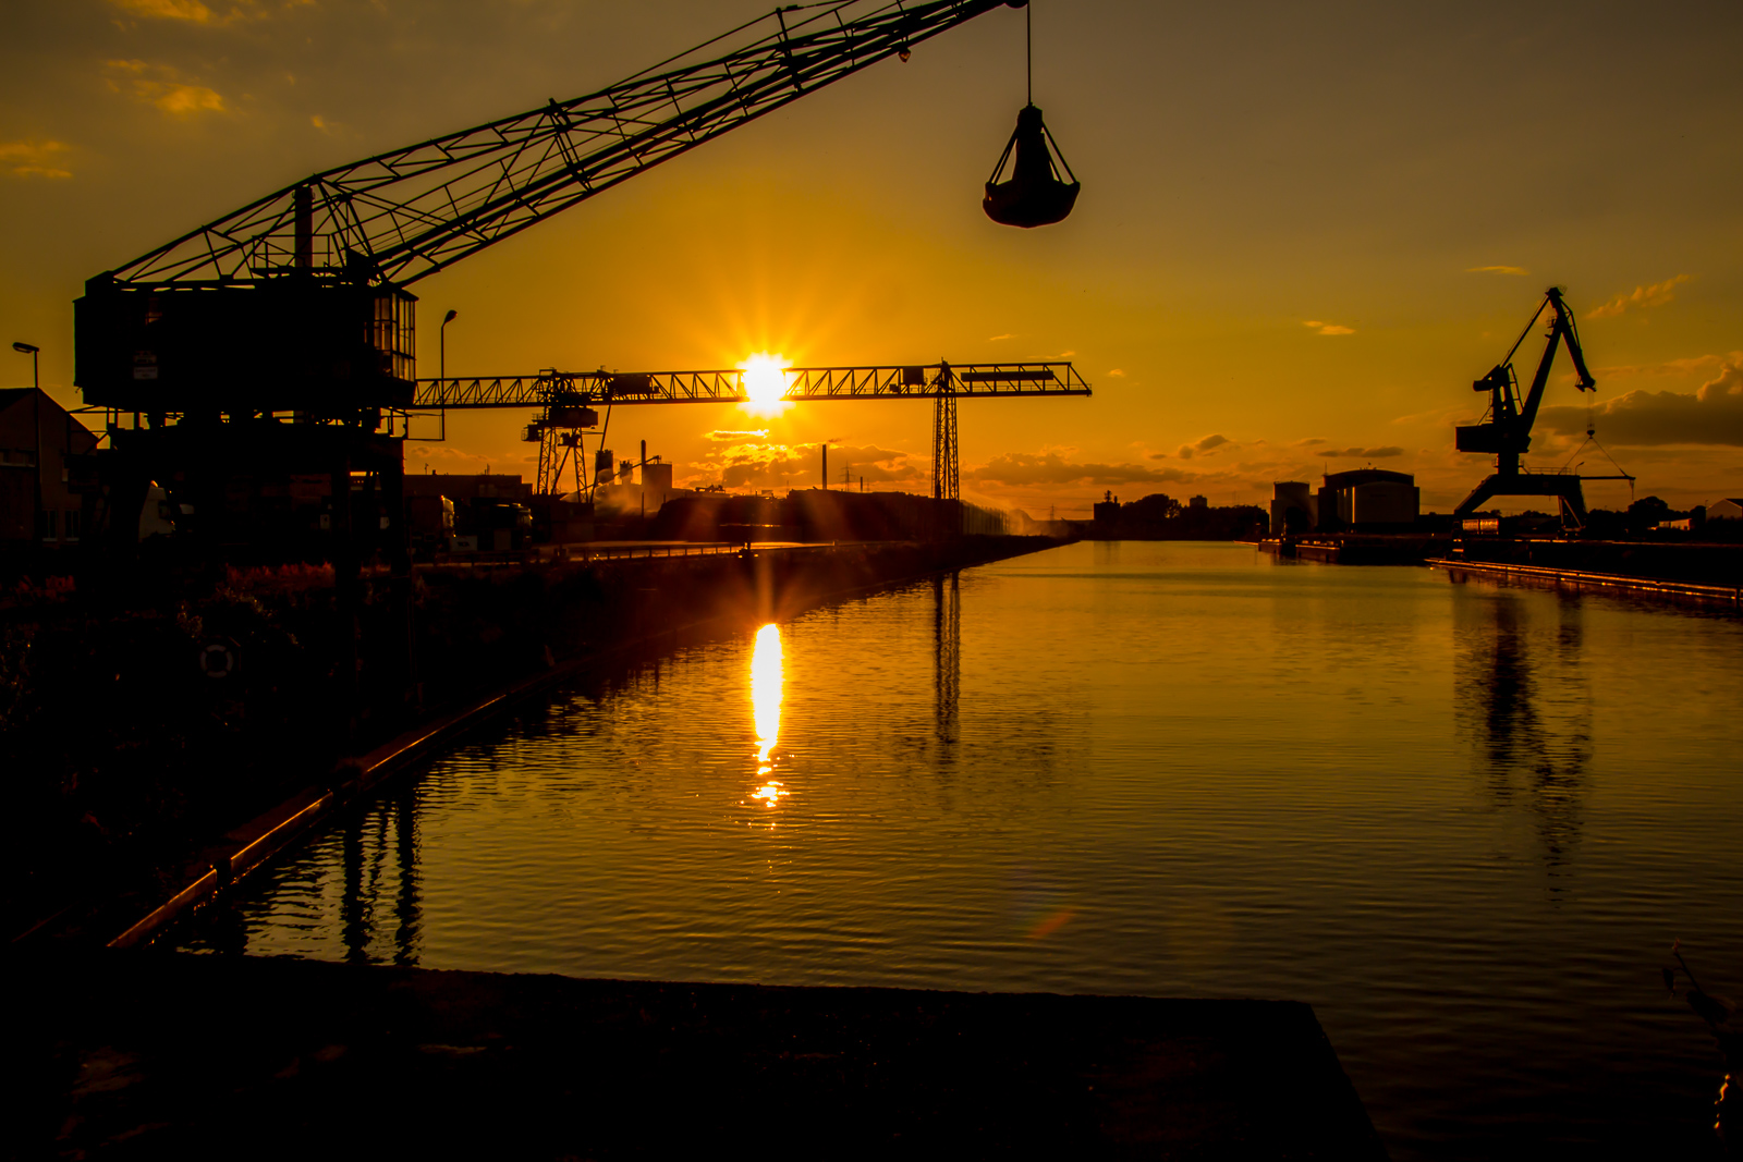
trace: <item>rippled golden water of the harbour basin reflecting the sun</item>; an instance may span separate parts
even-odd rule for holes
[[[1701,1157],[1658,970],[1743,991],[1740,756],[1726,615],[1079,544],[556,697],[187,941],[1299,998],[1394,1157]]]

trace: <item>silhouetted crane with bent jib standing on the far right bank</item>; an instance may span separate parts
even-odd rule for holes
[[[1513,371],[1513,355],[1530,334],[1532,328],[1550,310],[1548,345],[1543,359],[1537,361],[1537,375],[1532,376],[1530,390],[1520,395],[1518,376]],[[1581,392],[1597,390],[1597,380],[1586,369],[1586,355],[1579,348],[1579,329],[1574,326],[1574,312],[1562,298],[1562,287],[1551,286],[1544,291],[1543,303],[1532,314],[1525,329],[1506,357],[1495,368],[1476,380],[1471,388],[1489,392],[1489,411],[1480,423],[1461,425],[1455,430],[1459,451],[1494,453],[1495,470],[1471,490],[1471,495],[1459,502],[1454,516],[1468,516],[1480,503],[1492,497],[1555,497],[1572,514],[1576,524],[1586,521],[1586,498],[1579,488],[1581,479],[1611,479],[1577,472],[1530,472],[1520,465],[1520,456],[1530,451],[1530,429],[1537,422],[1537,406],[1543,402],[1543,388],[1550,383],[1550,368],[1555,364],[1556,348],[1565,343],[1567,354],[1574,361],[1577,376],[1576,387]]]

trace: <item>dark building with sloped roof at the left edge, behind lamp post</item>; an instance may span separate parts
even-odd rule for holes
[[[82,456],[98,437],[35,387],[0,388],[0,547],[77,544]]]

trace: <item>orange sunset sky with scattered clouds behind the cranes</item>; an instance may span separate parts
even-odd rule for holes
[[[763,3],[70,0],[0,38],[0,319],[75,402],[71,300],[322,167],[603,87]],[[1023,99],[995,10],[418,282],[420,368],[1070,357],[1093,399],[962,404],[964,491],[1086,514],[1375,463],[1428,507],[1469,390],[1567,287],[1598,439],[1638,493],[1743,495],[1743,7],[1041,0],[1035,101],[1084,181],[1034,232],[980,211]],[[1541,347],[1527,345],[1522,362]],[[3,348],[0,348],[3,350]],[[1070,355],[1067,355],[1070,352]],[[7,352],[10,354],[10,352]],[[28,382],[21,355],[0,382]],[[1565,357],[1563,357],[1565,359]],[[1534,463],[1583,439],[1558,368]],[[411,470],[523,472],[521,413]],[[919,488],[917,402],[621,409],[690,483]],[[762,436],[744,436],[763,432]],[[1335,455],[1332,455],[1335,453]],[[1595,469],[1593,462],[1593,469]],[[1623,484],[1591,484],[1621,505]]]

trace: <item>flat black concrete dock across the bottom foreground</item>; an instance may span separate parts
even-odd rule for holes
[[[1295,1002],[10,969],[14,1157],[1386,1157]]]

